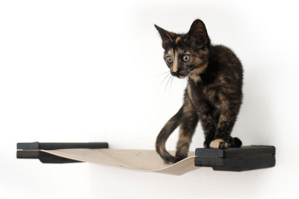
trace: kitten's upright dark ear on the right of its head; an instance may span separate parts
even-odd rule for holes
[[[196,19],[187,33],[191,44],[194,44],[198,48],[209,47],[210,38],[207,33],[207,29],[200,19]]]

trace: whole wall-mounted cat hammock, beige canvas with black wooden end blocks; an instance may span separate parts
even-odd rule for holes
[[[108,149],[106,142],[33,142],[17,143],[17,158],[38,158],[42,163],[88,162],[132,171],[182,175],[200,167],[212,167],[220,171],[274,167],[275,147],[252,145],[227,149],[197,148],[175,164],[164,164],[154,150]]]

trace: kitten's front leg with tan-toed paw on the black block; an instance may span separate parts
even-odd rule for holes
[[[236,146],[242,145],[241,140],[238,138],[232,138],[230,136],[237,119],[237,114],[240,108],[240,103],[236,101],[229,102],[224,96],[219,95],[220,99],[220,116],[216,127],[216,133],[213,141],[210,143],[211,148],[226,149],[230,145]],[[230,138],[232,138],[230,140]],[[241,142],[241,143],[240,143]]]

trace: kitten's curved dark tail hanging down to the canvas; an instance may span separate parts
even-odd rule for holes
[[[183,112],[183,107],[181,107],[177,111],[177,113],[167,121],[167,123],[164,125],[164,127],[162,128],[162,130],[157,136],[156,143],[155,143],[156,151],[161,156],[161,158],[164,160],[165,163],[176,162],[175,161],[176,158],[170,155],[168,151],[166,151],[165,143],[169,135],[176,129],[176,127],[178,127],[181,120],[182,112]]]

